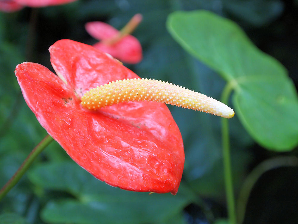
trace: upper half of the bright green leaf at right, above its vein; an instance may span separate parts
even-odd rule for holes
[[[256,74],[286,76],[285,68],[257,49],[231,20],[203,10],[175,12],[167,28],[185,50],[227,81]]]

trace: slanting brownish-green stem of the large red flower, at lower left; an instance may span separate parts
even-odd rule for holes
[[[22,165],[15,172],[13,177],[11,177],[10,180],[1,188],[0,201],[8,193],[8,191],[10,191],[10,189],[13,188],[14,185],[16,185],[16,183],[21,179],[21,177],[27,171],[29,166],[32,164],[34,159],[44,150],[44,148],[46,148],[47,145],[49,145],[52,142],[52,140],[53,140],[53,138],[51,136],[47,135],[31,151],[31,153],[28,155],[28,157],[25,159],[25,161],[22,163]]]

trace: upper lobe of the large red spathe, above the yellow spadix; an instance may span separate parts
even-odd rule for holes
[[[139,77],[96,48],[72,40],[59,40],[49,48],[51,63],[78,94],[105,83]]]

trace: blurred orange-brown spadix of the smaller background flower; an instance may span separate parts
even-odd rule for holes
[[[106,45],[113,45],[119,42],[122,38],[132,33],[139,23],[142,21],[143,16],[141,14],[134,15],[131,20],[119,31],[116,36],[113,36],[110,39],[102,40],[102,42]]]

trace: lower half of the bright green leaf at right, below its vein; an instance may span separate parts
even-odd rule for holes
[[[298,103],[292,81],[288,77],[250,76],[239,86],[233,102],[251,136],[269,149],[288,151],[296,145]]]

